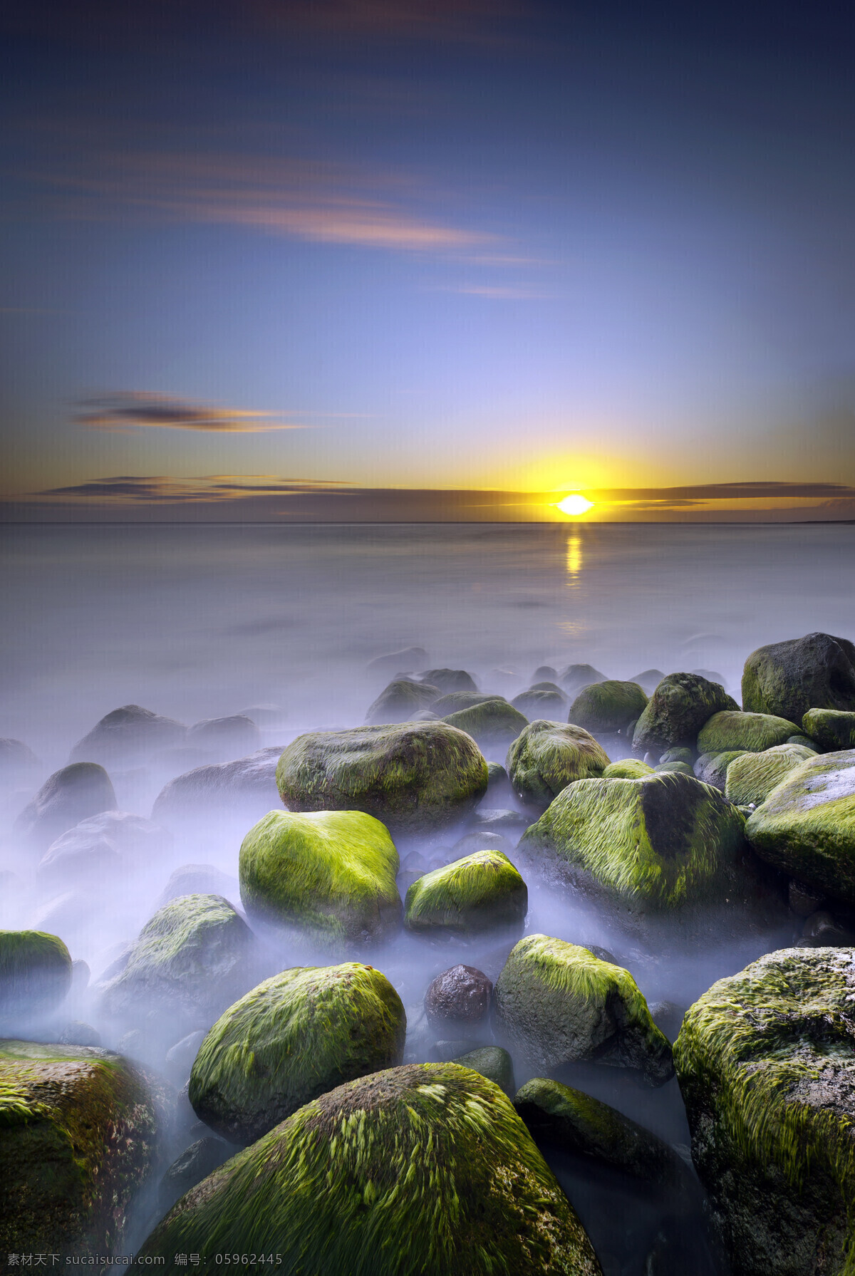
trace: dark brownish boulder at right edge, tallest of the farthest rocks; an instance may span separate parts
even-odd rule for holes
[[[745,661],[743,708],[801,722],[808,709],[855,709],[855,647],[813,633],[758,647]]]

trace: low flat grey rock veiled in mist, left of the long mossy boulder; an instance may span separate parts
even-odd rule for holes
[[[198,820],[199,815],[256,813],[278,805],[276,768],[282,749],[258,749],[234,762],[194,767],[176,776],[157,795],[152,819],[165,823]]]

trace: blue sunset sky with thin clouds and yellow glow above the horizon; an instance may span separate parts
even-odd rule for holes
[[[5,521],[855,518],[842,4],[0,37]]]

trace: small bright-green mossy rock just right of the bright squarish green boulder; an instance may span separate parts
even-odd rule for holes
[[[412,883],[405,901],[407,930],[477,931],[522,926],[528,888],[507,855],[476,851]]]

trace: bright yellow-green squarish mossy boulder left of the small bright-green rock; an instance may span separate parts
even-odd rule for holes
[[[374,815],[272,810],[241,843],[240,897],[249,916],[318,939],[379,939],[401,926],[399,868]]]

